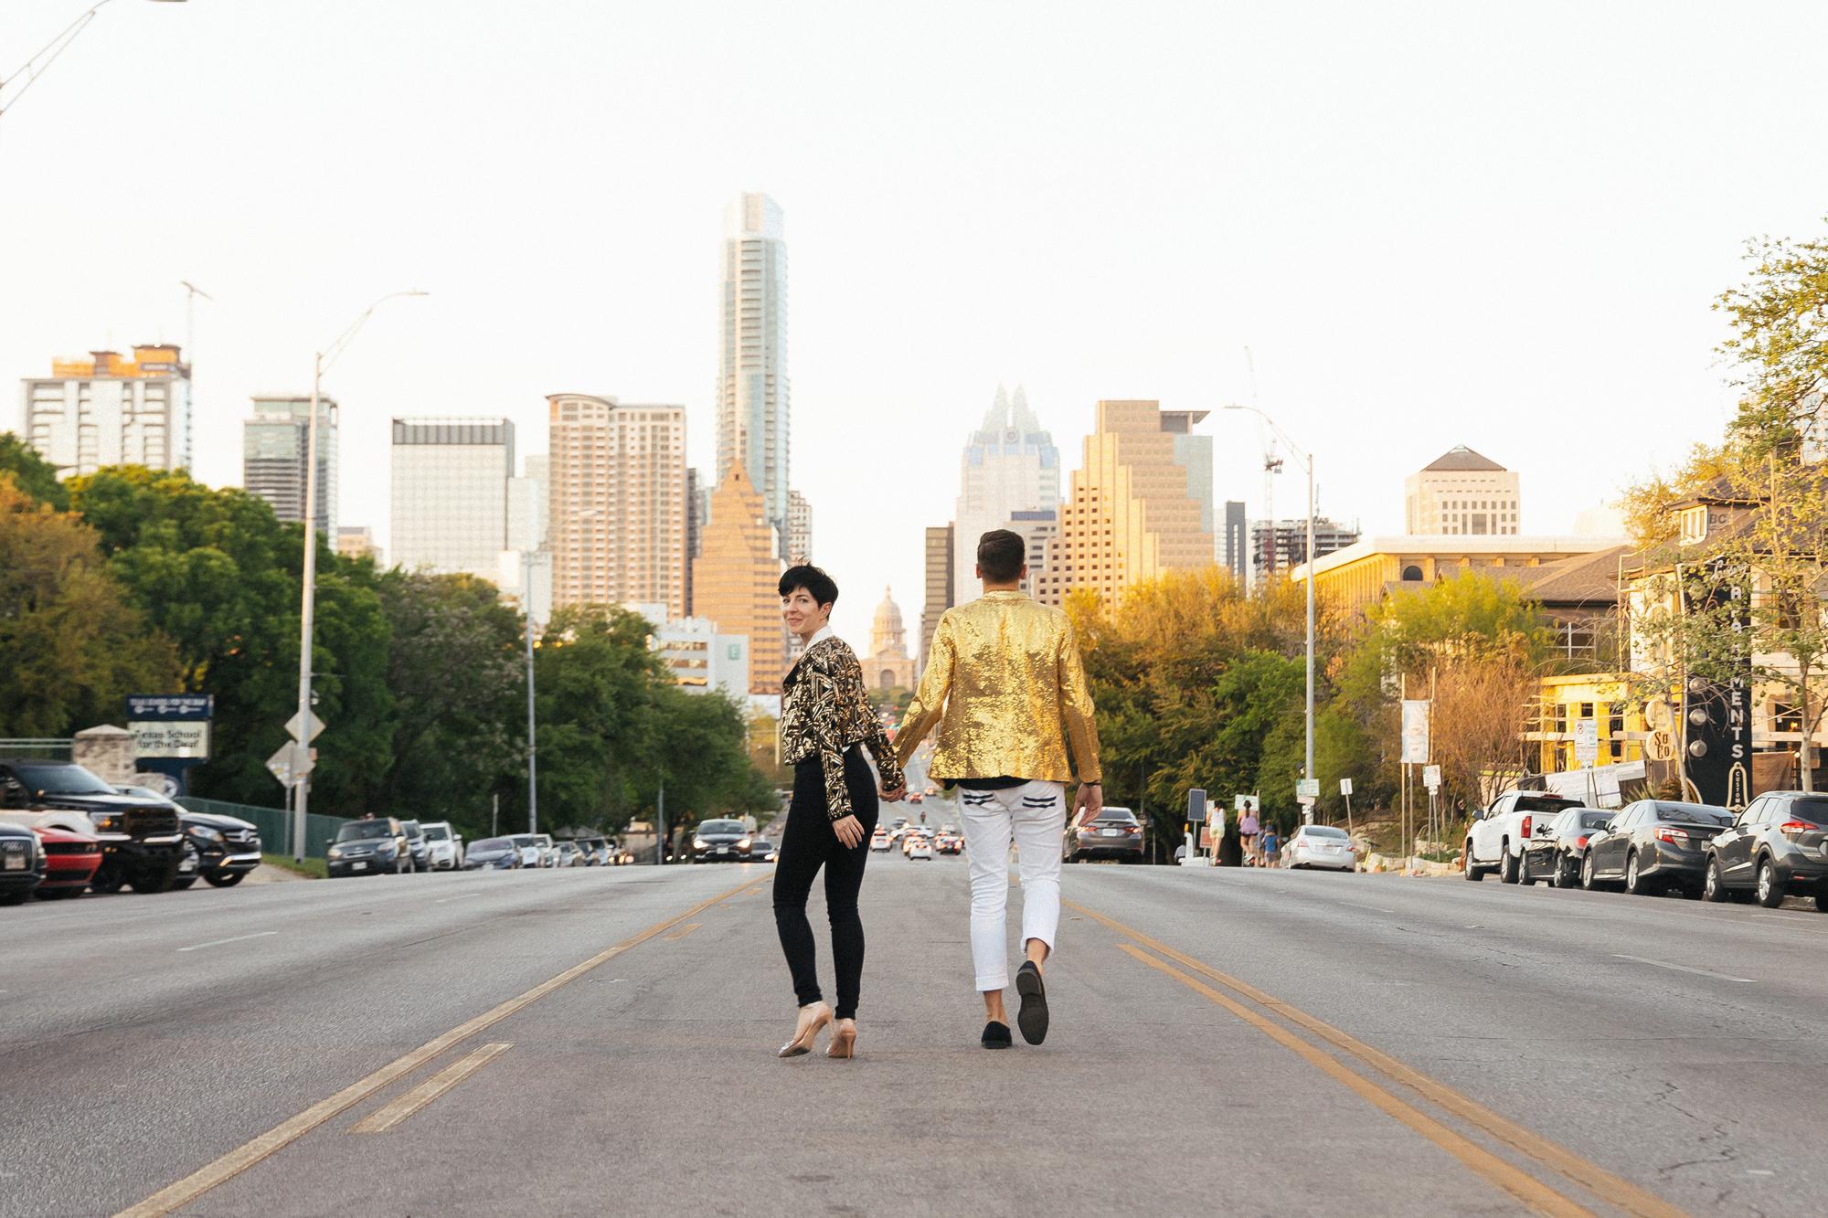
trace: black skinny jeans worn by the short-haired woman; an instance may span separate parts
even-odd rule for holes
[[[863,839],[854,847],[846,847],[832,832],[819,757],[793,766],[793,803],[788,805],[788,827],[781,834],[781,860],[775,863],[775,929],[781,933],[781,951],[788,956],[788,971],[793,973],[793,999],[801,1006],[817,1002],[817,951],[812,924],[806,922],[806,898],[824,867],[824,909],[832,918],[832,958],[837,964],[834,1013],[837,1019],[856,1019],[857,988],[863,982],[857,891],[863,887],[863,865],[870,860],[870,834],[876,832],[876,775],[863,761],[859,744],[845,750],[845,786],[850,788],[850,810],[863,823]]]

